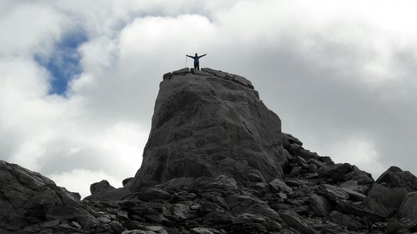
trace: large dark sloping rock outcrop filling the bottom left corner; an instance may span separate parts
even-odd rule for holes
[[[0,160],[0,208],[0,231],[11,233],[38,232],[40,228],[58,233],[59,220],[76,221],[82,231],[88,232],[98,223],[97,213],[72,192],[37,172],[3,160]]]

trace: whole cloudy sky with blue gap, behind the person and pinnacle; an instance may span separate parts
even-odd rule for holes
[[[416,1],[0,0],[0,160],[85,197],[142,161],[163,74],[245,76],[282,131],[417,174]]]

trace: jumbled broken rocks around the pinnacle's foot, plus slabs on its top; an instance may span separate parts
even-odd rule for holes
[[[49,178],[0,161],[0,233],[417,233],[416,176],[390,167],[374,181],[280,135],[285,163],[268,181],[249,171],[243,180],[230,173],[178,176],[132,189],[134,178],[127,178],[121,188],[92,184],[82,201]]]

